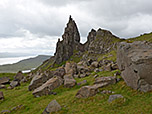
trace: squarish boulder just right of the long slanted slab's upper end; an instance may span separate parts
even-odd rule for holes
[[[76,80],[72,76],[70,75],[64,76],[64,87],[71,88],[75,85],[76,85]]]

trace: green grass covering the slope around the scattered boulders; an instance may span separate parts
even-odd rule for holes
[[[146,38],[145,38],[146,37]],[[152,35],[144,35],[138,38],[129,39],[130,41],[142,40],[145,38],[148,41],[152,41]],[[109,55],[113,56],[109,56]],[[109,54],[101,55],[99,60],[103,56],[108,57],[109,60],[116,60],[116,52],[112,51]],[[113,72],[100,72],[99,76],[113,76]],[[91,85],[94,82],[92,73],[90,76],[76,79],[77,82],[87,80],[87,85]],[[8,75],[8,74],[7,74]],[[109,95],[103,95],[98,93],[94,97],[86,99],[77,99],[75,94],[79,90],[79,86],[75,86],[72,89],[60,87],[55,89],[57,95],[42,96],[40,98],[34,98],[32,92],[28,91],[29,83],[22,84],[13,90],[2,90],[5,95],[5,100],[0,101],[0,111],[5,109],[11,109],[14,106],[23,105],[23,108],[12,112],[12,114],[41,114],[45,107],[53,99],[56,99],[62,107],[62,110],[54,114],[151,114],[152,113],[152,92],[142,93],[132,90],[127,87],[125,82],[121,80],[117,84],[110,85],[101,90],[111,90],[116,94],[122,94],[125,97],[123,100],[116,100],[112,103],[108,103]]]

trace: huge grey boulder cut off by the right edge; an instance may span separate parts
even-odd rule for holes
[[[117,64],[128,86],[143,92],[152,90],[152,43],[120,43]]]

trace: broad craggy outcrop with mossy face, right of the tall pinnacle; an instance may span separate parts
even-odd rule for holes
[[[94,31],[95,32],[95,31]],[[90,35],[90,34],[89,34]],[[95,35],[95,33],[94,33]],[[88,46],[89,54],[104,54],[115,48],[116,42],[119,40],[118,37],[114,36],[110,31],[98,29],[96,36]]]

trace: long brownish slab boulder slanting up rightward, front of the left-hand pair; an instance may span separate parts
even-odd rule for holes
[[[38,87],[33,91],[33,95],[35,97],[40,97],[43,95],[49,95],[52,90],[59,87],[63,84],[63,80],[60,77],[53,77],[49,79],[46,83],[44,83],[42,86]]]

